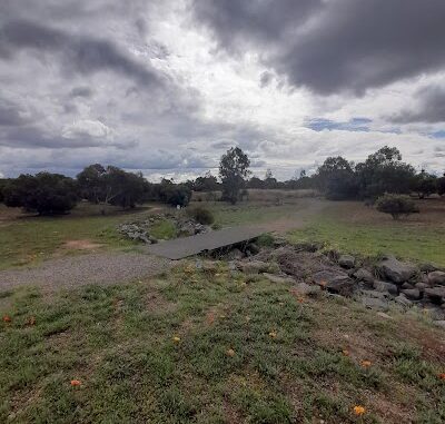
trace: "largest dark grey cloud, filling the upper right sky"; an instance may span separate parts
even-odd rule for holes
[[[194,11],[222,48],[261,47],[291,85],[323,95],[363,93],[445,66],[443,0],[195,0]]]

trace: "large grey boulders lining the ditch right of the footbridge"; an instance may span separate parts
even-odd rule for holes
[[[445,272],[434,266],[422,268],[386,256],[373,267],[360,266],[350,255],[324,254],[314,246],[281,244],[238,260],[237,268],[255,269],[271,282],[295,282],[297,292],[326,290],[355,297],[366,307],[385,312],[390,304],[404,308],[417,305],[435,309],[437,323],[445,319]],[[271,264],[277,270],[270,274]]]

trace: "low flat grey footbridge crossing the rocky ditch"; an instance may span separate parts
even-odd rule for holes
[[[211,252],[221,247],[249,241],[264,233],[265,230],[258,227],[225,228],[218,231],[198,234],[196,236],[176,238],[150,245],[148,253],[169,259],[181,259],[202,252]]]

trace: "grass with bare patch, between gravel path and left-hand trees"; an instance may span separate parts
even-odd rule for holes
[[[56,217],[23,216],[0,221],[0,269],[32,265],[48,259],[58,250],[60,255],[81,250],[61,249],[70,240],[88,240],[101,248],[128,248],[135,243],[117,230],[119,223],[149,214],[149,207],[123,211],[109,207],[101,215],[101,207],[79,204],[69,215]],[[1,207],[0,214],[10,213]]]

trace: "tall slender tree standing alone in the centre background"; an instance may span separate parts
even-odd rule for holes
[[[233,147],[222,155],[219,164],[219,177],[222,181],[222,199],[235,205],[239,191],[245,187],[245,178],[249,175],[250,160],[239,148]]]

